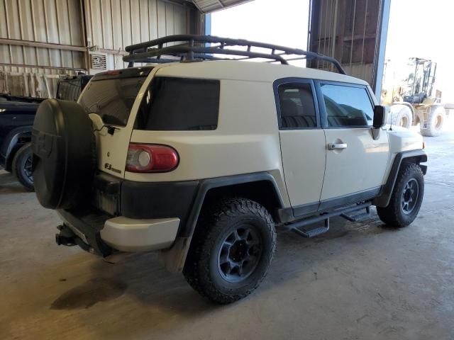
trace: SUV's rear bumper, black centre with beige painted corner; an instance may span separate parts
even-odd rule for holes
[[[100,256],[109,256],[114,251],[166,249],[175,242],[180,222],[177,217],[134,220],[122,216],[110,218],[93,211],[57,212],[65,227],[74,234],[74,243]]]

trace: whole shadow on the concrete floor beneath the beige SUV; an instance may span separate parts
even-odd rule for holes
[[[330,232],[313,239],[301,238],[293,232],[278,232],[277,254],[267,278],[250,297],[231,307],[204,299],[192,290],[182,274],[168,273],[158,261],[157,254],[150,253],[134,255],[116,264],[101,259],[88,261],[87,280],[65,291],[60,290],[60,296],[49,302],[49,308],[75,313],[82,324],[91,324],[94,314],[101,313],[103,322],[117,323],[120,337],[123,331],[126,332],[121,324],[131,322],[136,324],[134,329],[128,329],[128,336],[132,338],[143,332],[149,334],[175,329],[180,322],[191,322],[228,308],[239,306],[241,309],[242,305],[254,304],[254,300],[267,299],[272,290],[287,284],[287,281],[305,277],[303,281],[306,282],[307,274],[311,280],[313,271],[323,275],[323,271],[316,268],[326,268],[326,261],[330,261],[327,252],[336,249],[338,255],[339,251],[348,249],[341,244],[348,243],[360,242],[362,248],[367,248],[370,242],[380,242],[377,237],[387,232],[395,231],[384,227],[376,215],[355,223],[333,219]],[[122,315],[121,321],[118,320],[119,314]],[[139,326],[138,319],[147,322],[141,322]],[[96,335],[104,338],[109,336],[109,331],[111,329],[96,329]]]

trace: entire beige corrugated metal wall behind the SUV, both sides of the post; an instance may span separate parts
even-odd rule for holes
[[[179,0],[0,0],[0,92],[54,96],[59,75],[89,71],[89,50],[123,68],[127,45],[200,33],[200,17]]]

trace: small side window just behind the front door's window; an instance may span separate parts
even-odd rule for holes
[[[315,128],[314,96],[310,84],[282,84],[278,87],[281,128]]]

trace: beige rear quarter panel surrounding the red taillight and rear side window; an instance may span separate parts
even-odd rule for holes
[[[165,69],[159,75],[165,75]],[[190,114],[190,113],[187,113]],[[218,128],[211,131],[133,130],[131,142],[170,145],[179,154],[174,171],[125,173],[131,181],[189,181],[268,171],[289,205],[282,176],[272,84],[221,80]]]

